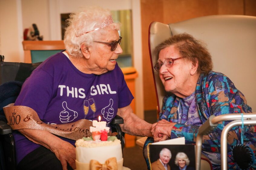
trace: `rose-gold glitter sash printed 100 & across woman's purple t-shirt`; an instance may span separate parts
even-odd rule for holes
[[[45,124],[39,119],[38,114],[30,107],[13,105],[14,103],[11,103],[3,108],[8,124],[13,130],[45,130],[52,134],[72,140],[91,136],[90,126],[92,126],[92,121],[81,119],[76,122],[66,124]]]

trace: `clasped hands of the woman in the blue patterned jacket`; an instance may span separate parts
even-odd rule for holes
[[[162,119],[154,124],[152,124],[151,133],[153,135],[154,141],[159,142],[171,138],[172,127],[176,123],[169,122]]]

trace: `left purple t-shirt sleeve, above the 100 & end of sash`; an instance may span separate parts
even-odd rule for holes
[[[42,120],[52,97],[53,77],[42,69],[34,71],[25,81],[15,105],[34,109]]]

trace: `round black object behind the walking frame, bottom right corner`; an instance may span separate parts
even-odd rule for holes
[[[235,162],[241,169],[248,169],[255,163],[254,153],[249,146],[238,144],[232,147]]]

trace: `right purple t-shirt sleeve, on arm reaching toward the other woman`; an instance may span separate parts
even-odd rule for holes
[[[123,108],[131,104],[134,99],[131,91],[129,90],[123,76],[123,72],[118,67],[118,81],[119,81],[119,89],[118,89],[118,108]]]

